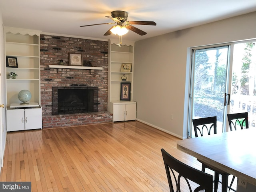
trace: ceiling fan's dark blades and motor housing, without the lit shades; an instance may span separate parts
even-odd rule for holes
[[[91,25],[83,25],[80,27],[86,27],[86,26],[94,26],[94,25],[102,25],[102,24],[116,24],[116,26],[120,26],[120,28],[127,28],[139,35],[146,35],[147,33],[132,26],[132,25],[156,25],[154,21],[127,21],[128,18],[128,12],[126,11],[112,11],[111,17],[106,16],[107,18],[110,18],[114,21],[114,23],[100,23],[100,24],[91,24]],[[112,26],[104,35],[110,35],[112,33],[112,29],[116,26]],[[128,30],[127,30],[128,32]]]

